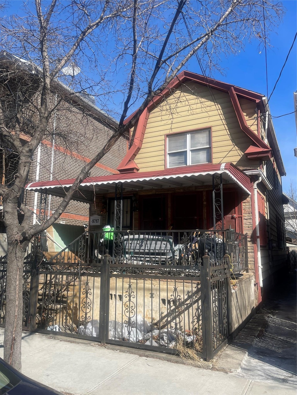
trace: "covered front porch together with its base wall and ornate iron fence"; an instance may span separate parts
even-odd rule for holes
[[[231,164],[205,167],[85,180],[74,199],[90,203],[89,230],[59,252],[41,237],[28,250],[25,329],[211,359],[254,299],[242,210],[249,179]],[[29,186],[40,192],[41,221],[47,195],[62,197],[70,184]],[[2,325],[5,275],[3,257]]]

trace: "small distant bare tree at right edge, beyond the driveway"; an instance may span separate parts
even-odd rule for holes
[[[284,205],[286,238],[297,242],[297,188],[290,182],[289,189],[286,191],[289,203]]]

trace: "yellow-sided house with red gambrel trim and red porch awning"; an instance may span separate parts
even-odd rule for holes
[[[90,203],[97,222],[89,231],[108,225],[122,240],[166,234],[173,264],[200,259],[193,251],[202,237],[223,239],[234,273],[252,278],[255,305],[261,302],[286,265],[286,173],[265,96],[183,71],[141,113],[117,170],[84,180],[74,196]],[[63,197],[70,185],[45,181],[29,189]],[[209,243],[204,253],[213,251]]]

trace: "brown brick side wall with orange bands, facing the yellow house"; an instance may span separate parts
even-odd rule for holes
[[[61,103],[56,114],[51,116],[48,134],[40,147],[40,168],[36,177],[38,150],[34,152],[28,182],[47,181],[51,177],[51,162],[53,162],[52,179],[75,178],[86,163],[101,150],[113,133],[113,128],[106,121],[82,113],[82,111]],[[54,135],[54,151],[52,143]],[[91,169],[91,177],[118,173],[116,167],[127,151],[127,140],[120,138],[114,147]],[[52,159],[53,155],[53,159]],[[40,194],[37,195],[37,214],[40,207]],[[26,204],[34,209],[35,193],[25,193]],[[57,209],[61,198],[47,198],[47,213]],[[35,201],[36,203],[36,201]],[[50,204],[50,207],[49,207]],[[71,201],[57,220],[65,224],[88,224],[89,205]]]

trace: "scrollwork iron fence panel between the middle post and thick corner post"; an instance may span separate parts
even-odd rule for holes
[[[107,263],[106,342],[175,354],[202,355],[198,265]]]

